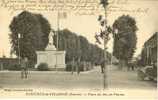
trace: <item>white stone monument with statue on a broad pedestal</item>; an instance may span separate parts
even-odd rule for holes
[[[54,33],[49,34],[49,42],[45,51],[36,51],[37,64],[47,63],[50,70],[65,70],[65,51],[58,51],[53,44]]]

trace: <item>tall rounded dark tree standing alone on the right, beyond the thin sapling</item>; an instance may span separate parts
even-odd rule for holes
[[[122,68],[132,59],[136,49],[136,21],[129,15],[122,15],[115,20],[113,29],[117,30],[114,36],[113,55],[119,59]]]

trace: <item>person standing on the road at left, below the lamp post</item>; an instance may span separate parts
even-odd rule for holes
[[[27,79],[28,75],[28,59],[24,57],[21,61],[21,78]]]

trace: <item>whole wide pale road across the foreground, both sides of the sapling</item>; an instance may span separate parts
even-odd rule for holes
[[[102,89],[103,76],[100,67],[79,75],[71,72],[30,71],[28,79],[21,79],[19,71],[1,71],[0,87],[7,88],[57,88],[57,89]],[[156,90],[156,83],[140,81],[136,71],[119,71],[117,66],[108,66],[108,87],[115,89]]]

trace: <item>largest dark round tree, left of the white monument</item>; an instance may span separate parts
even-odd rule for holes
[[[11,53],[20,57],[28,57],[35,64],[36,50],[44,50],[48,44],[49,22],[40,14],[23,11],[13,18],[9,28],[11,31],[9,35],[12,45]],[[21,36],[19,39],[18,34]]]

